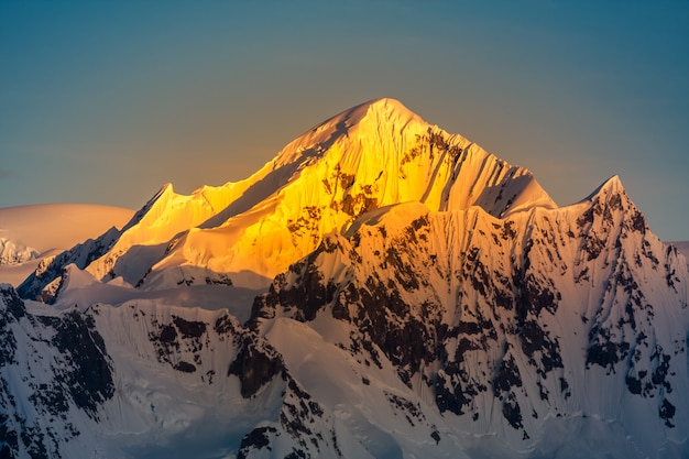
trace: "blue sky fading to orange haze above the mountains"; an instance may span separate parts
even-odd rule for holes
[[[689,240],[689,2],[0,0],[0,207],[138,209],[392,97]]]

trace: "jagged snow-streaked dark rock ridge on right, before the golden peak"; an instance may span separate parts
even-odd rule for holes
[[[282,351],[265,330],[298,320],[392,364],[472,457],[679,458],[688,283],[613,177],[579,204],[503,218],[371,211],[278,275],[252,327]]]

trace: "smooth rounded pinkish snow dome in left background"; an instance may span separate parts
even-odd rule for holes
[[[89,204],[46,204],[0,209],[0,282],[19,285],[48,259],[111,227],[122,228],[134,212]]]

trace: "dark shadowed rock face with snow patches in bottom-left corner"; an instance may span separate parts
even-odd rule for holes
[[[59,458],[59,444],[80,435],[72,413],[97,422],[114,393],[103,340],[88,314],[33,316],[12,288],[0,292],[0,453]]]

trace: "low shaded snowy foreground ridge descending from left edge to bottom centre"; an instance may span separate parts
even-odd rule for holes
[[[132,299],[58,312],[24,304],[8,285],[0,309],[2,457],[392,458],[430,445],[438,457],[463,457],[452,441],[438,447],[434,435],[445,429],[430,422],[441,419],[398,395],[411,394],[406,387],[381,391],[391,374],[369,376],[329,346],[308,359],[316,369],[327,363],[327,379],[309,376],[314,368],[295,361],[298,352],[278,353],[227,310]],[[295,331],[305,334],[295,341]],[[322,342],[293,321],[270,336],[286,346]],[[326,402],[340,403],[324,405],[289,368],[300,379],[338,381],[346,396],[332,391]],[[375,384],[365,396],[362,378]],[[408,405],[414,424],[391,401]],[[379,426],[395,416],[400,433]],[[404,435],[409,425],[419,438]]]

